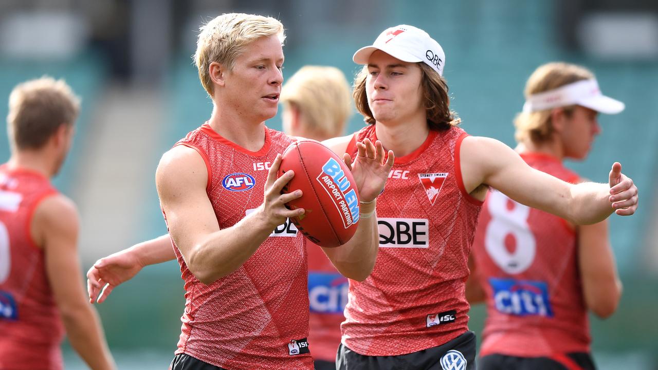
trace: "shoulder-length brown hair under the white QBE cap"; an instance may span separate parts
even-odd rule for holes
[[[450,97],[445,78],[425,63],[416,64],[420,67],[423,104],[430,130],[447,130],[452,126],[457,126],[461,123],[461,119],[457,117],[457,113],[450,110]],[[364,66],[354,80],[354,103],[366,123],[374,124],[375,119],[370,111],[366,92],[367,76],[368,67]]]

